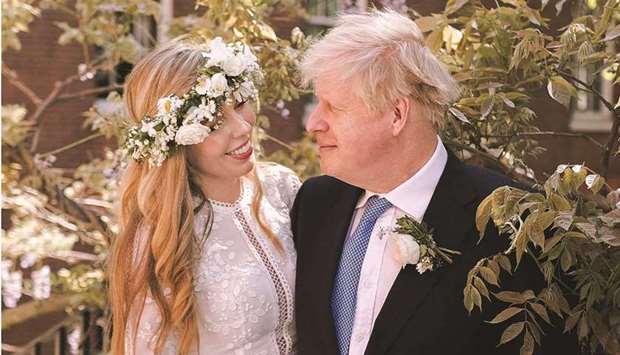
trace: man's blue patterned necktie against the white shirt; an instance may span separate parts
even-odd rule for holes
[[[355,232],[349,236],[342,250],[331,300],[332,316],[341,355],[349,353],[357,304],[357,285],[372,229],[375,227],[377,218],[391,206],[392,204],[384,198],[372,196],[368,199]]]

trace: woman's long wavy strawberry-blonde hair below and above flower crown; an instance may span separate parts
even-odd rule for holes
[[[203,64],[202,50],[187,38],[179,38],[140,60],[125,83],[129,117],[137,123],[155,113],[159,98],[186,93]],[[256,169],[249,175],[255,185],[252,211],[262,231],[281,251],[282,245],[259,213],[263,189]],[[204,240],[193,231],[193,196],[199,195],[208,204],[198,181],[198,172],[190,166],[182,146],[160,167],[129,162],[121,182],[120,233],[107,261],[112,354],[125,353],[125,332],[137,329],[147,295],[154,299],[161,316],[156,353],[175,331],[180,335],[180,354],[197,349],[193,261]],[[212,213],[210,206],[209,210]],[[166,289],[170,293],[164,296]],[[128,328],[134,306],[136,324]]]

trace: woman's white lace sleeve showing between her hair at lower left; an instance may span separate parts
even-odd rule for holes
[[[135,240],[132,260],[136,269],[140,267],[140,261],[143,259],[142,256],[146,253],[148,245],[148,237],[145,231],[146,228],[139,228]],[[166,295],[167,293],[164,292],[164,294]],[[140,312],[141,309],[142,312]],[[139,302],[134,302],[130,308],[127,326],[125,327],[125,354],[154,355],[155,345],[157,343],[156,334],[160,322],[159,308],[150,295],[147,295],[144,301],[140,299]],[[162,352],[157,354],[176,354],[176,345],[172,336],[166,339]]]

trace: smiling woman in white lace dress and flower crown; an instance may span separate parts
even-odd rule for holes
[[[113,354],[291,354],[300,182],[258,164],[260,69],[241,43],[177,39],[129,75],[136,126],[108,260]]]

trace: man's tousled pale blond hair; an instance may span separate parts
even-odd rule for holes
[[[424,44],[418,26],[393,10],[342,14],[337,25],[307,50],[301,64],[305,86],[321,76],[347,83],[371,112],[401,97],[426,106],[441,127],[458,87]]]

